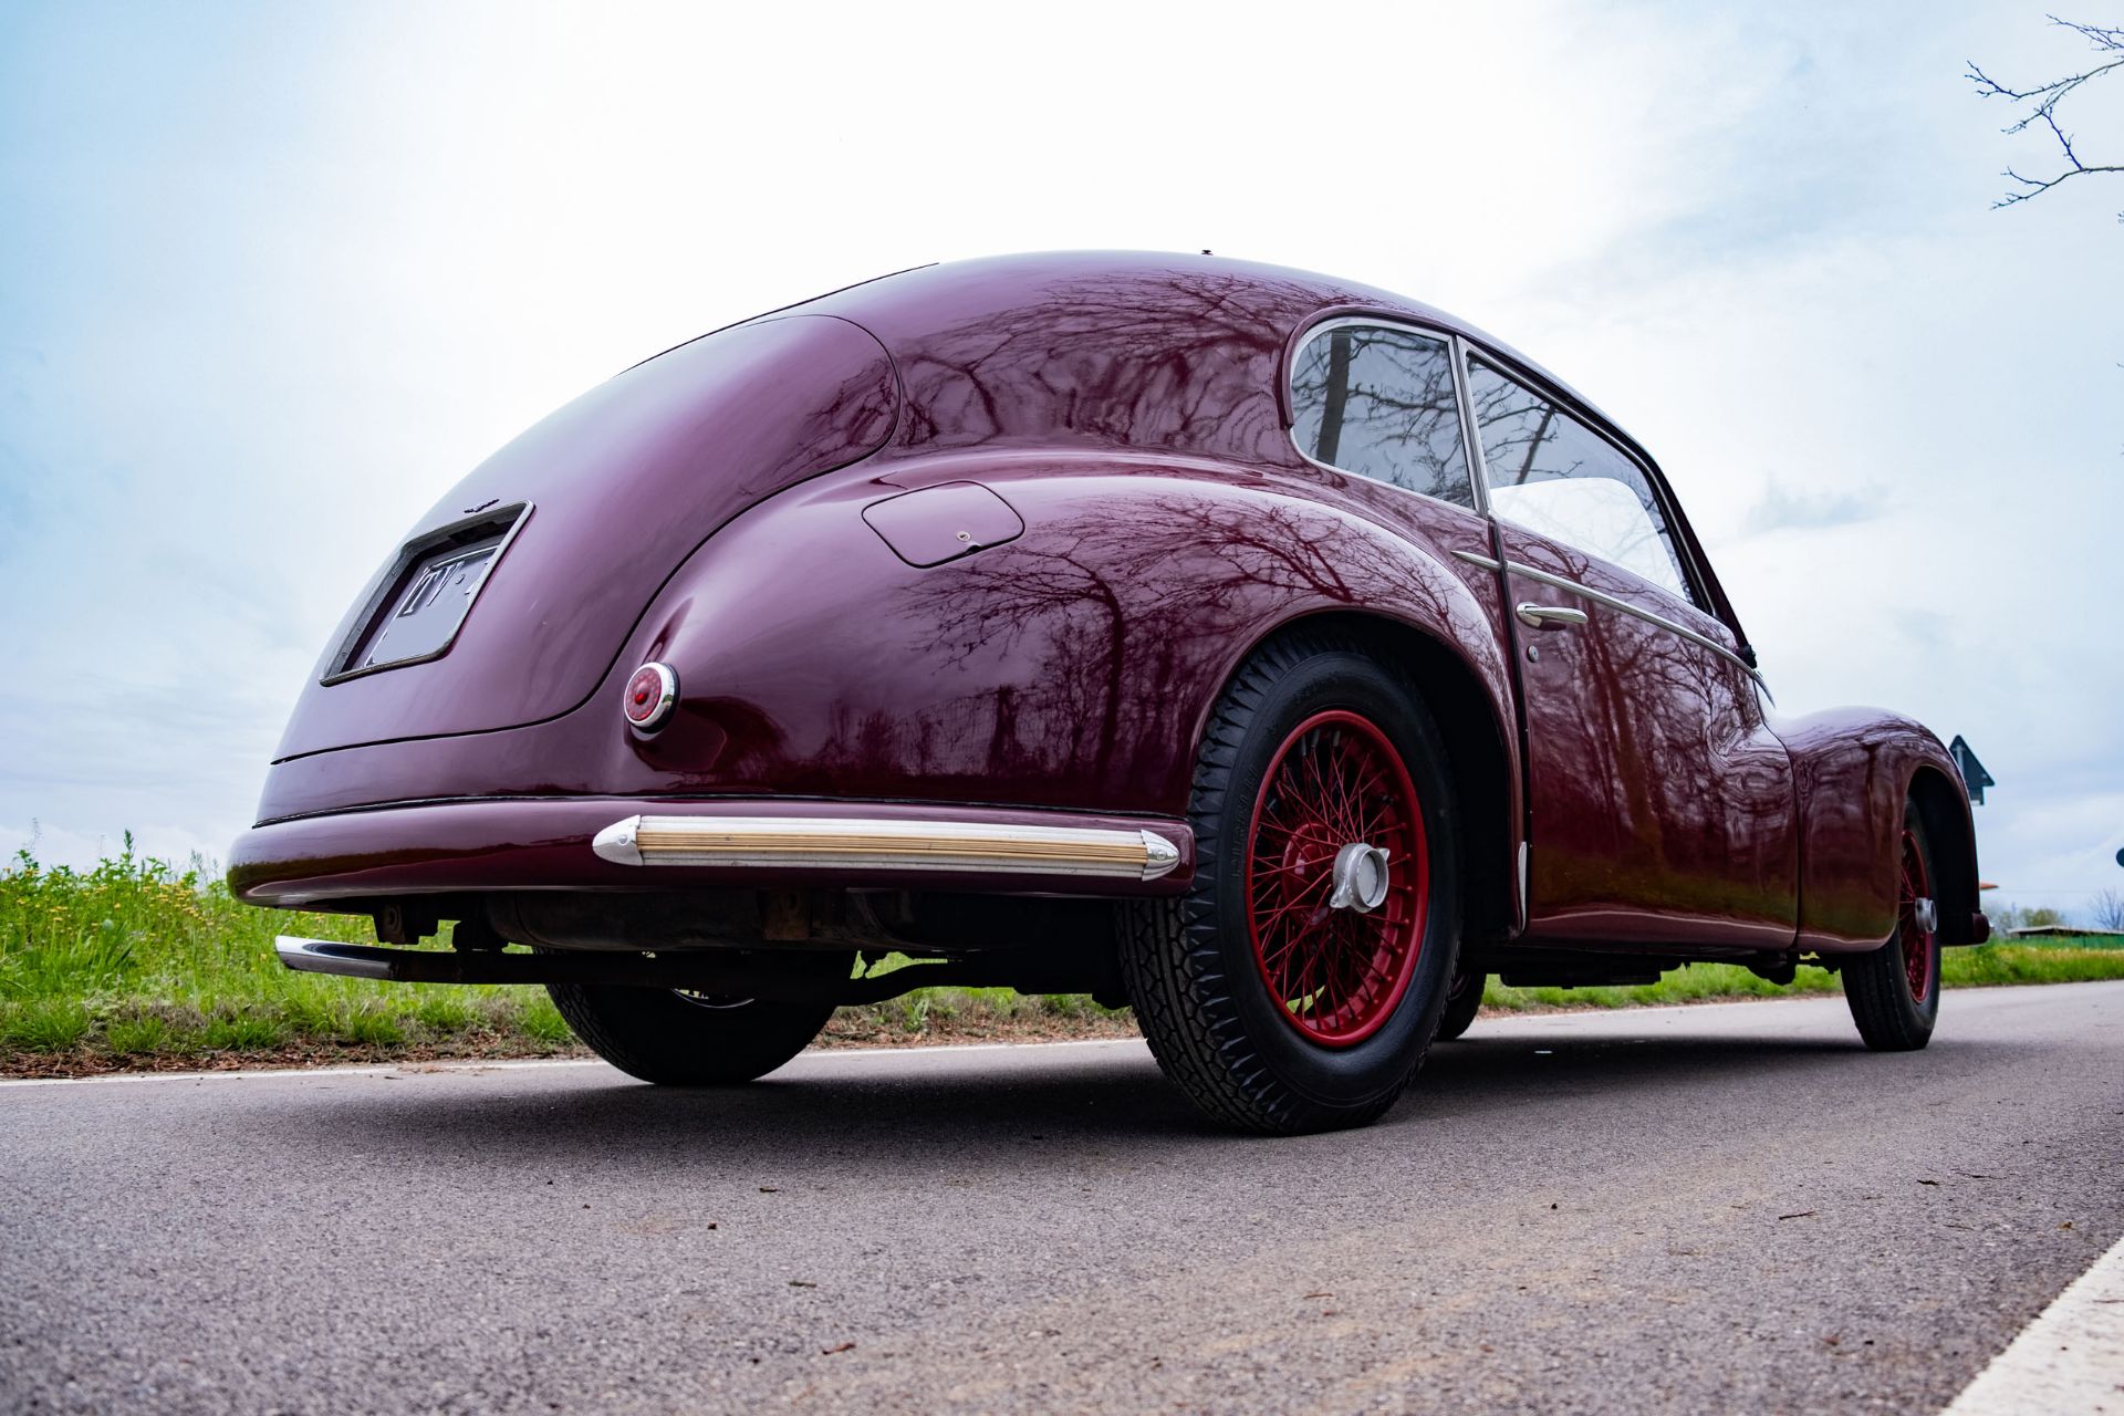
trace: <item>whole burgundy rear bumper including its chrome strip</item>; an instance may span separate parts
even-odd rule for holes
[[[514,890],[877,885],[994,894],[1177,894],[1181,822],[898,802],[450,800],[266,822],[229,883],[253,904]]]

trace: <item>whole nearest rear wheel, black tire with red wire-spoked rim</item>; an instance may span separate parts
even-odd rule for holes
[[[1285,641],[1240,669],[1196,762],[1196,877],[1138,902],[1130,1000],[1213,1119],[1319,1132],[1408,1085],[1459,943],[1457,819],[1423,701],[1355,647]]]

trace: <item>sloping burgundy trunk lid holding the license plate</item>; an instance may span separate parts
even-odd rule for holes
[[[627,369],[414,524],[331,637],[276,758],[578,707],[701,541],[869,456],[896,414],[886,350],[824,314],[735,325]]]

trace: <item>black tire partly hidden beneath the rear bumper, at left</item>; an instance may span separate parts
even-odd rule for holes
[[[833,1004],[718,1000],[610,983],[548,983],[590,1051],[658,1087],[729,1087],[767,1076],[805,1049]]]

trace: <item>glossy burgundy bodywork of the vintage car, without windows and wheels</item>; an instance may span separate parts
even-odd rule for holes
[[[1291,359],[1344,316],[1446,338],[1627,448],[1697,603],[1300,454]],[[1650,456],[1504,344],[1383,291],[1164,255],[905,272],[620,374],[408,539],[497,505],[529,510],[446,652],[346,673],[382,588],[348,614],[234,849],[242,898],[408,938],[535,892],[1179,892],[1211,707],[1257,645],[1315,622],[1423,686],[1463,802],[1468,943],[1508,979],[1875,949],[1907,798],[1941,943],[1986,932],[1939,741],[1886,713],[1774,715]],[[1527,599],[1587,622],[1531,628]],[[618,711],[646,662],[680,686],[652,735]],[[644,811],[1145,826],[1179,864],[1117,881],[593,851]]]

